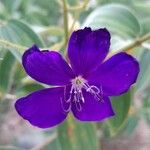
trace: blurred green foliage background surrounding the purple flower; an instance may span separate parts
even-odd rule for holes
[[[68,34],[84,26],[108,28],[110,54],[125,50],[139,60],[137,83],[111,98],[116,116],[105,122],[82,123],[70,115],[56,128],[32,127],[16,114],[14,102],[45,85],[25,74],[21,55],[33,44],[65,54],[63,0],[0,0],[0,150],[124,150],[123,141],[132,139],[137,143],[127,141],[125,149],[149,150],[149,142],[143,141],[142,149],[136,138],[141,129],[150,134],[150,1],[67,0],[66,5]]]

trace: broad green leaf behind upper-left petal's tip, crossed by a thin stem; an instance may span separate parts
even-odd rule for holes
[[[43,43],[36,33],[28,25],[18,20],[10,20],[5,25],[0,26],[0,39],[28,47],[33,44],[43,47]],[[21,61],[23,51],[16,48],[9,48],[8,50]]]

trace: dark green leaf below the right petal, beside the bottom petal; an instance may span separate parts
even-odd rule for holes
[[[110,136],[115,136],[127,121],[131,103],[131,91],[118,97],[112,97],[111,100],[116,115],[105,122],[104,125],[109,130]]]

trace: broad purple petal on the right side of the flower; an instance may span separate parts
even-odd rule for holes
[[[136,82],[139,64],[135,58],[124,52],[118,53],[104,62],[91,73],[87,80],[98,87],[107,96],[120,95]]]

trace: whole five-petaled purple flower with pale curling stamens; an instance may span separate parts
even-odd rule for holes
[[[17,100],[17,112],[40,128],[55,126],[71,111],[80,121],[101,121],[114,115],[109,96],[126,92],[135,83],[139,64],[121,52],[104,61],[109,52],[106,29],[84,28],[72,33],[68,45],[70,65],[55,51],[34,45],[22,58],[33,79],[56,86]]]

